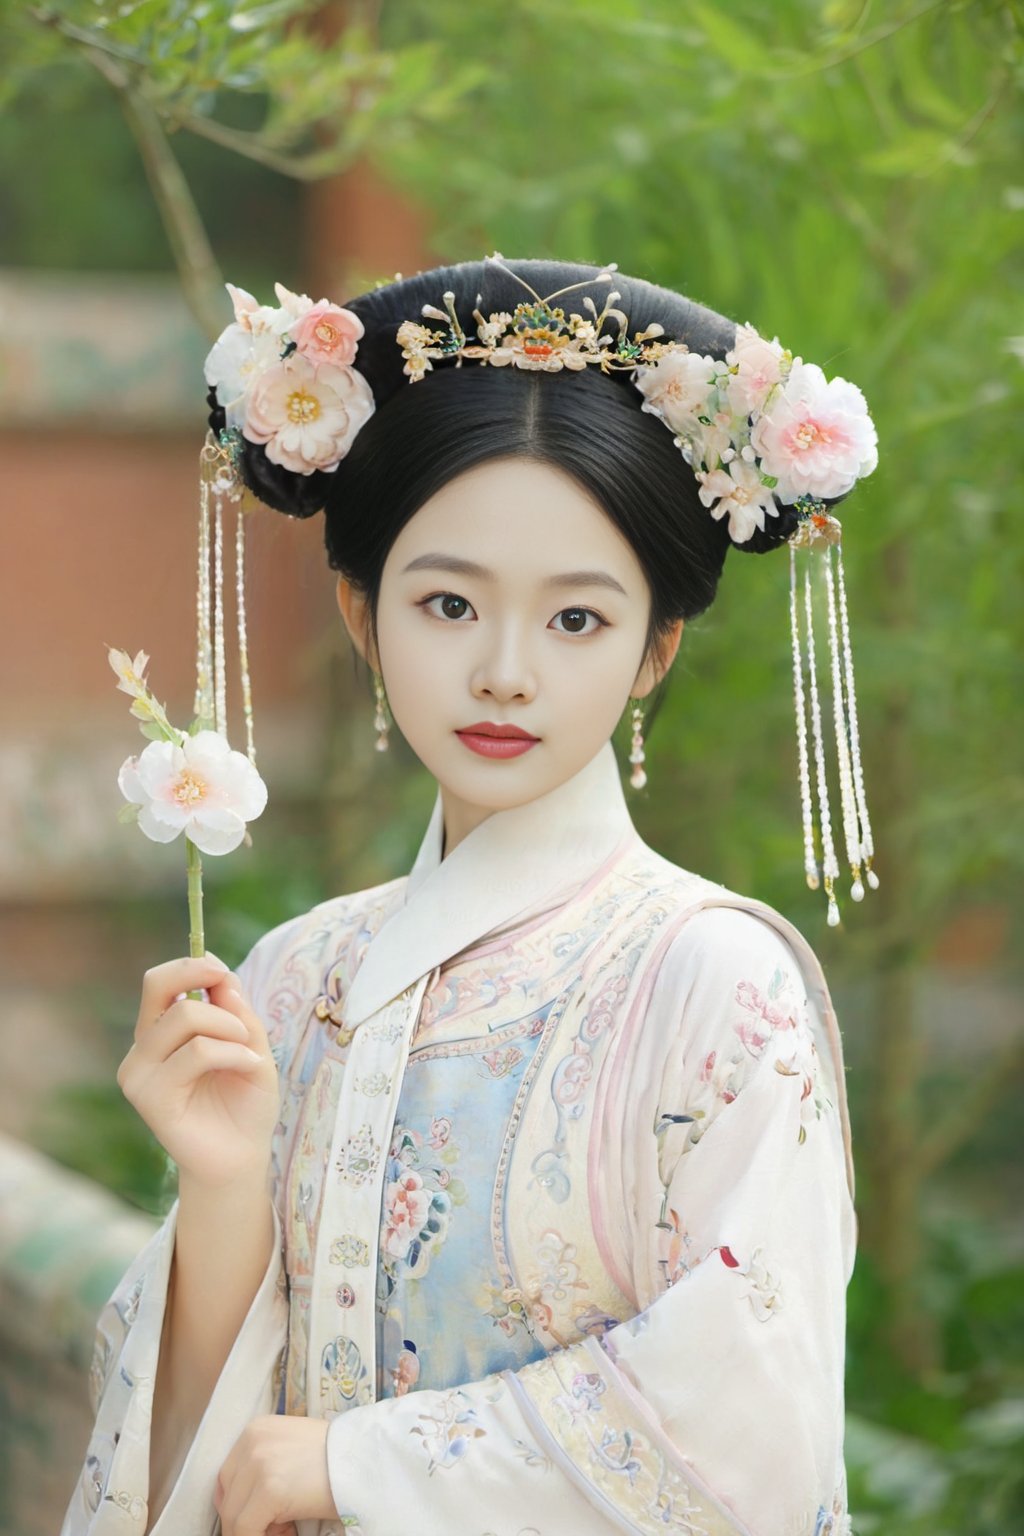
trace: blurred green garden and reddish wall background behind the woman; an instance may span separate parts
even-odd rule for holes
[[[106,647],[189,717],[223,283],[344,303],[493,250],[616,261],[867,396],[880,465],[843,525],[878,892],[829,929],[803,880],[783,561],[726,564],[628,794],[832,986],[855,1536],[1022,1531],[1019,0],[3,0],[0,25],[0,1531],[58,1528],[95,1313],[173,1198],[115,1071],[143,969],[187,949],[184,852],[118,823],[141,743]],[[270,802],[206,862],[232,965],[405,872],[434,799],[396,733],[373,750],[321,539],[252,521]]]

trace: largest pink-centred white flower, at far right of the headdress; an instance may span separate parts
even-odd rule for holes
[[[826,379],[817,362],[800,359],[754,424],[751,444],[786,504],[843,496],[878,464],[878,433],[857,384]]]

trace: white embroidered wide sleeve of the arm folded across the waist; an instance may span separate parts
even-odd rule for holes
[[[847,1536],[855,1215],[827,1046],[772,925],[731,908],[683,923],[596,1134],[599,1223],[636,1316],[332,1419],[342,1524],[391,1536],[415,1511],[419,1536]]]

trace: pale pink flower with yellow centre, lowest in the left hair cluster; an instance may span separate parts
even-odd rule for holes
[[[315,367],[293,352],[253,384],[243,432],[266,445],[272,464],[312,475],[338,468],[373,410],[373,390],[356,369]]]

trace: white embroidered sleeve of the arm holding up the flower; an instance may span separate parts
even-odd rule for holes
[[[243,991],[264,1020],[266,988],[293,945],[299,923],[301,919],[290,919],[270,929],[236,966]],[[273,1204],[270,1261],[152,1536],[184,1536],[186,1531],[210,1536],[218,1519],[213,1493],[224,1459],[252,1418],[275,1412],[289,1309],[276,1198]],[[89,1372],[95,1422],[61,1536],[146,1530],[149,1427],[177,1217],[175,1200],[98,1316]]]

